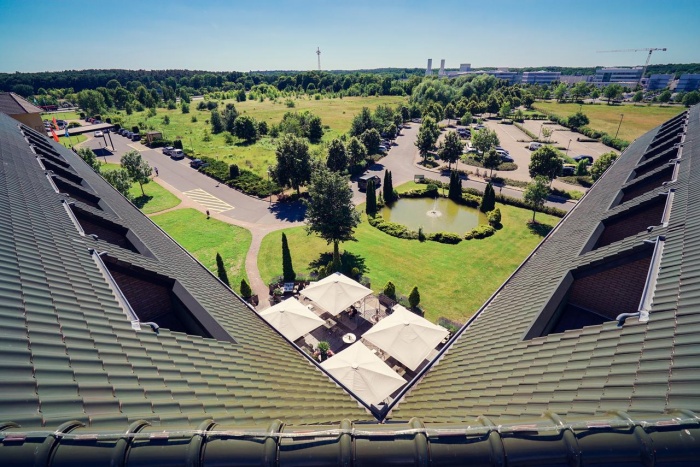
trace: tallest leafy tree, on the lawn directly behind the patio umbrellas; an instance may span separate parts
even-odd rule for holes
[[[355,210],[346,177],[321,166],[311,177],[305,203],[307,233],[316,233],[328,244],[333,243],[334,252],[339,242],[355,239],[360,214]]]

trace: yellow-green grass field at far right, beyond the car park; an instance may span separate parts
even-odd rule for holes
[[[581,107],[579,104],[558,102],[535,102],[534,107],[560,117],[573,115],[581,108],[590,120],[589,127],[604,131],[610,136],[615,136],[620,125],[620,115],[623,114],[618,138],[630,142],[685,110],[680,106],[584,104]]]

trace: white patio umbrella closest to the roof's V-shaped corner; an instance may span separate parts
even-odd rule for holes
[[[338,352],[321,367],[368,404],[378,404],[406,380],[374,355],[362,342]]]

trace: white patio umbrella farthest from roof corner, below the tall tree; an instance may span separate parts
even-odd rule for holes
[[[308,286],[300,293],[335,316],[353,303],[372,295],[372,290],[336,272]]]

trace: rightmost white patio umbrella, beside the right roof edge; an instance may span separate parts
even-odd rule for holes
[[[401,305],[362,335],[372,344],[415,370],[449,332]]]

